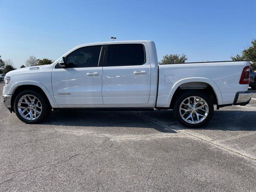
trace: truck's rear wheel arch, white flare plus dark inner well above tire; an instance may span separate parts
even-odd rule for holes
[[[186,86],[184,88],[181,88],[182,85],[189,84],[189,83],[192,83],[193,85],[190,85],[188,88],[186,88]],[[206,84],[207,86],[206,88],[198,87],[198,83]],[[222,96],[220,94],[220,90],[212,80],[209,80],[207,78],[186,78],[186,79],[179,80],[172,86],[172,89],[166,101],[166,107],[172,108],[179,94],[186,90],[200,90],[200,91],[206,92],[207,94],[212,93],[213,96],[216,98],[216,102],[214,102],[214,100],[213,102],[218,105],[222,104]]]

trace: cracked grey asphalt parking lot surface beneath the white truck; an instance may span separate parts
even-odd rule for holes
[[[199,129],[172,110],[57,110],[25,124],[1,100],[0,191],[256,191],[253,92]]]

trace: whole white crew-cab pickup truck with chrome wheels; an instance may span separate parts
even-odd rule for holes
[[[54,63],[8,72],[4,104],[26,123],[59,108],[173,109],[187,127],[217,109],[246,105],[249,62],[158,64],[153,41],[84,44]]]

